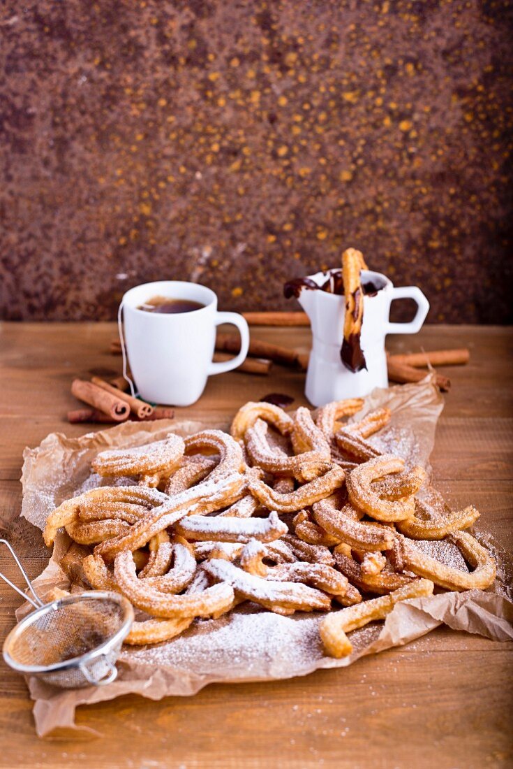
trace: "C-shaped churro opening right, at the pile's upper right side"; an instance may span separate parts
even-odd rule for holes
[[[382,478],[384,475],[399,473],[404,468],[404,460],[394,457],[392,454],[384,454],[382,457],[369,459],[360,464],[349,474],[346,485],[349,501],[356,508],[366,512],[377,521],[402,521],[410,518],[415,509],[415,501],[412,497],[390,501],[379,496],[372,488],[372,481]],[[424,474],[422,468],[414,468],[420,474]]]

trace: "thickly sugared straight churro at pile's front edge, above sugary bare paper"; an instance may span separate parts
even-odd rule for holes
[[[254,601],[277,614],[314,609],[326,611],[330,606],[327,595],[305,584],[270,582],[219,558],[204,561],[203,568],[215,580],[230,584],[240,598]]]

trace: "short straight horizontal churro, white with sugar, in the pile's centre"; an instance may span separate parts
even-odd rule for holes
[[[272,542],[288,531],[278,514],[270,512],[269,518],[220,518],[207,515],[190,515],[175,526],[175,531],[187,539],[215,540],[219,542]]]

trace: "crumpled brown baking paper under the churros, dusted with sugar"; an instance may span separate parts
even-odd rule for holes
[[[393,451],[406,464],[422,464],[429,471],[429,454],[435,426],[443,408],[442,397],[427,377],[419,384],[375,390],[366,398],[364,411],[387,405],[390,424],[374,438],[377,448]],[[361,417],[361,412],[358,418]],[[134,422],[88,433],[81,438],[51,434],[35,449],[25,450],[22,515],[42,529],[48,514],[61,501],[105,483],[91,474],[91,459],[111,446],[135,446],[163,438],[169,431],[185,435],[200,429],[194,422]],[[227,428],[227,424],[220,425]],[[445,503],[432,489],[424,492],[433,507]],[[470,502],[470,500],[469,500]],[[486,539],[485,535],[479,535]],[[430,543],[432,553],[448,558],[439,543]],[[91,732],[74,724],[80,704],[110,700],[122,694],[142,694],[153,700],[168,695],[195,694],[214,682],[269,681],[306,675],[320,667],[346,667],[366,654],[407,644],[445,623],[450,628],[478,633],[497,641],[513,639],[511,564],[488,537],[487,544],[498,562],[498,580],[489,591],[441,593],[396,605],[384,624],[370,624],[351,634],[349,657],[326,657],[319,641],[323,614],[294,614],[283,617],[245,603],[217,620],[197,620],[178,638],[147,647],[122,648],[117,662],[118,677],[106,687],[61,690],[28,678],[35,700],[35,724],[39,736],[61,727]],[[41,598],[55,588],[83,589],[79,563],[84,548],[60,531],[51,561],[35,580]],[[452,564],[466,568],[457,548],[449,552]],[[459,559],[459,561],[458,561]],[[27,613],[25,604],[18,616]]]

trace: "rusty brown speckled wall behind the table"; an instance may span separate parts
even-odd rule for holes
[[[2,316],[233,309],[364,251],[431,321],[508,320],[508,2],[7,0]]]

